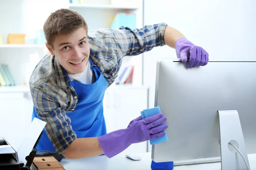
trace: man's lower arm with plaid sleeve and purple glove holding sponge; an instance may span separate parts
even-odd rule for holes
[[[145,119],[140,116],[131,121],[126,129],[116,130],[103,136],[76,138],[76,133],[70,125],[70,118],[59,107],[58,101],[35,86],[31,88],[31,94],[39,118],[47,122],[45,126],[47,136],[56,152],[62,153],[66,159],[81,159],[103,153],[111,158],[131,144],[165,135],[163,130],[168,127],[161,125],[166,121],[166,117],[163,114],[156,114]]]

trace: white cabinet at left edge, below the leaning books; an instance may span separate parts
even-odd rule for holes
[[[0,92],[0,137],[14,145],[15,150],[31,122],[33,103],[27,94],[23,91]]]

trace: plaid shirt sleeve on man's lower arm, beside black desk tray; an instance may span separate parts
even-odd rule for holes
[[[70,118],[50,95],[30,85],[32,100],[38,117],[46,122],[45,130],[56,152],[61,154],[76,139]]]

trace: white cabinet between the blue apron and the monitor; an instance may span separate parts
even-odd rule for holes
[[[148,88],[144,86],[113,85],[108,88],[103,100],[107,132],[125,129],[139,117],[140,111],[148,108]],[[122,153],[147,152],[147,142],[132,144]]]

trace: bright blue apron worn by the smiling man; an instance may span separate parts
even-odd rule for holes
[[[73,112],[66,113],[71,119],[70,125],[75,131],[77,138],[97,137],[107,133],[102,100],[105,91],[108,88],[108,82],[99,71],[99,68],[93,64],[91,59],[90,62],[90,68],[93,70],[96,79],[93,84],[85,85],[78,81],[70,81],[70,78],[67,75],[70,84],[78,95],[76,109]],[[67,74],[66,71],[65,73]],[[35,112],[35,107],[32,114],[32,120],[34,117],[38,118],[38,115]],[[45,130],[43,131],[44,133],[42,133],[36,147],[37,150],[55,151]]]

